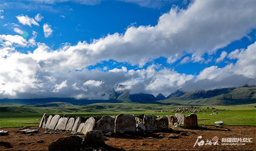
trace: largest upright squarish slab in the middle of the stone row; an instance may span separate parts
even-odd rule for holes
[[[132,114],[119,114],[115,119],[115,133],[119,131],[136,131],[136,120]]]

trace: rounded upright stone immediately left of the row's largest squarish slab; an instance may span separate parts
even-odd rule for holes
[[[97,130],[102,131],[102,133],[114,133],[115,120],[111,116],[103,116],[97,122]]]

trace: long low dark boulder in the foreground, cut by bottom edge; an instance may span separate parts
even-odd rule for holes
[[[72,135],[69,137],[60,137],[56,141],[53,141],[49,146],[49,151],[56,150],[75,150],[82,145],[82,138],[78,135]]]

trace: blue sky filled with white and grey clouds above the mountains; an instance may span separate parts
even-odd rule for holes
[[[255,85],[255,33],[252,0],[1,0],[0,98]]]

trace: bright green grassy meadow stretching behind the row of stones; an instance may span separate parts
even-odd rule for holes
[[[236,105],[236,106],[199,106],[206,112],[198,112],[199,125],[215,125],[216,121],[223,121],[226,126],[256,126],[256,104]],[[174,115],[171,111],[179,107],[189,107],[180,105],[163,104],[140,104],[140,103],[96,103],[76,106],[62,103],[59,107],[0,107],[0,128],[38,126],[44,113],[66,114],[68,116],[103,116],[124,114],[154,114],[156,116]],[[210,109],[207,110],[206,108]],[[218,109],[218,114],[212,114],[212,109]],[[220,110],[221,109],[221,110]],[[224,110],[225,109],[225,110]],[[153,112],[158,110],[170,110],[170,112]],[[182,113],[188,116],[190,113]],[[39,119],[39,120],[38,120]]]

